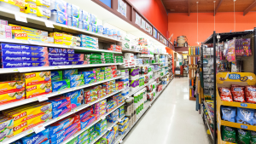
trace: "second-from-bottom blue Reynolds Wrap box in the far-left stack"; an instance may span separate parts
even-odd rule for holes
[[[1,58],[0,58],[1,59]],[[44,56],[33,57],[33,56],[2,56],[3,61],[48,61]]]

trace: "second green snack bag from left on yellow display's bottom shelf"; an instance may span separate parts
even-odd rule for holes
[[[239,144],[250,144],[251,141],[251,132],[249,130],[237,129],[237,143]]]

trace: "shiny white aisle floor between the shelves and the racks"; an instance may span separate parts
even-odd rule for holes
[[[174,78],[122,144],[207,144],[195,101],[189,101],[188,78]]]

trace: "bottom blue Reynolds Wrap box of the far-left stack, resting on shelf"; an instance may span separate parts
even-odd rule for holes
[[[16,61],[16,62],[3,62],[2,68],[14,68],[14,67],[37,67],[37,66],[49,66],[48,61]]]

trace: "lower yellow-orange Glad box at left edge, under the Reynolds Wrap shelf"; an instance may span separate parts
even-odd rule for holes
[[[25,89],[0,95],[0,104],[2,105],[9,102],[15,102],[15,101],[20,101],[24,99],[25,99]]]

